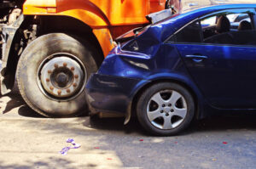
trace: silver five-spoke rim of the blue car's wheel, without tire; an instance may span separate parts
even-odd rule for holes
[[[183,122],[187,115],[187,104],[181,93],[163,90],[149,99],[147,115],[154,127],[172,129]]]

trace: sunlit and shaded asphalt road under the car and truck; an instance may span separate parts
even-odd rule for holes
[[[151,137],[136,120],[49,119],[18,94],[0,99],[0,168],[224,168],[256,167],[256,115],[195,121],[177,137]],[[81,144],[59,151],[73,138]]]

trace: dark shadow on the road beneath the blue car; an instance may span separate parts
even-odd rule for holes
[[[90,119],[90,123],[84,122],[83,125],[99,130],[124,131],[125,133],[137,132],[141,135],[148,135],[148,132],[143,130],[136,118],[133,118],[124,126],[124,118],[99,119],[93,117]],[[196,132],[226,132],[226,130],[254,131],[256,130],[256,115],[212,116],[194,121],[182,135]]]

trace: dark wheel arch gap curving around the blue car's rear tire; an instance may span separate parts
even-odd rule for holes
[[[182,79],[178,78],[170,78],[170,77],[162,77],[162,78],[157,78],[152,81],[148,81],[148,83],[144,84],[142,87],[139,87],[137,89],[137,92],[131,97],[131,104],[129,105],[126,119],[125,119],[125,124],[127,124],[130,121],[131,116],[136,115],[136,106],[137,106],[137,99],[142,95],[142,93],[148,88],[153,86],[156,83],[159,82],[174,82],[182,87],[186,88],[189,93],[191,93],[193,99],[195,100],[195,119],[201,119],[201,111],[202,111],[202,95],[199,91],[199,89],[195,86],[195,84],[189,84],[189,82],[184,82]]]

